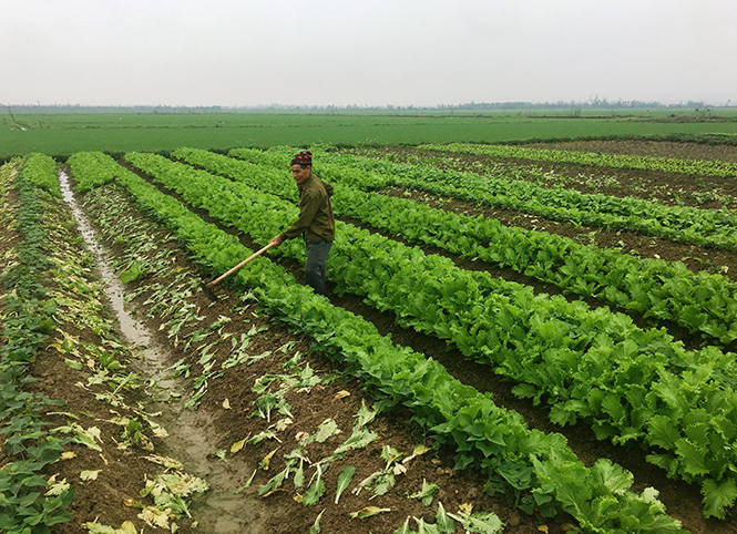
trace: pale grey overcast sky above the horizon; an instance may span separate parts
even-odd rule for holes
[[[737,104],[737,0],[0,6],[0,104]]]

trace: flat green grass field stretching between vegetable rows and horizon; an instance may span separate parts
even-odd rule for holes
[[[674,133],[737,135],[737,111],[734,110],[717,111],[706,117],[680,111],[680,121],[663,111],[613,111],[597,116],[582,113],[577,117],[570,112],[549,112],[545,116],[542,112],[453,116],[448,112],[402,113],[4,114],[0,116],[0,161],[30,152],[63,157],[79,151],[171,151],[181,146],[225,150],[314,143],[414,145]]]

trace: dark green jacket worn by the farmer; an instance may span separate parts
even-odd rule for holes
[[[284,230],[282,239],[291,239],[305,235],[306,242],[335,239],[335,217],[330,197],[332,186],[310,174],[297,185],[299,189],[299,218],[289,228]]]

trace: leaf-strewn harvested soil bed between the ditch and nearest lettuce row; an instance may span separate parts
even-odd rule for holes
[[[272,322],[253,295],[240,300],[221,288],[215,304],[202,292],[187,295],[182,278],[196,276],[194,271],[157,268],[153,259],[161,246],[152,247],[144,233],[126,230],[145,222],[124,192],[110,186],[96,189],[85,198],[85,208],[116,243],[120,269],[127,273],[136,266],[131,306],[158,325],[162,342],[180,353],[170,373],[191,377],[185,407],[211,414],[205,430],[216,438],[205,453],[232,472],[229,485],[213,490],[240,502],[239,514],[249,521],[243,521],[238,532],[308,532],[318,516],[323,532],[345,532],[348,526],[341,523],[350,520],[349,514],[369,505],[383,510],[381,515],[356,518],[350,528],[362,524],[378,532],[393,531],[410,515],[434,523],[429,509],[406,496],[420,492],[423,481],[438,486],[436,499],[444,499],[451,513],[457,503],[471,501],[477,512],[483,506],[499,510],[499,503],[481,494],[481,481],[452,473],[449,460],[428,454],[424,442],[398,428],[393,418],[375,415],[360,383],[340,376],[340,369],[319,355],[308,356],[309,342]],[[164,236],[163,230],[160,234]],[[176,246],[171,235],[164,240]],[[319,476],[315,464],[320,465]],[[395,475],[396,470],[400,474]],[[352,481],[351,490],[375,476],[362,492],[351,493],[346,486],[338,499],[341,474]],[[385,495],[392,485],[396,492]],[[295,502],[295,496],[301,501]],[[501,514],[505,521],[533,532],[534,523],[509,512],[512,515]]]

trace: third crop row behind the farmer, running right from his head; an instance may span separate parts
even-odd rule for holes
[[[318,152],[314,152],[317,160]],[[631,232],[699,246],[737,248],[737,216],[729,210],[665,206],[633,197],[582,194],[565,188],[546,188],[516,179],[513,175],[479,175],[327,151],[319,152],[319,161],[364,171],[370,175],[369,184],[413,188],[610,232]]]

